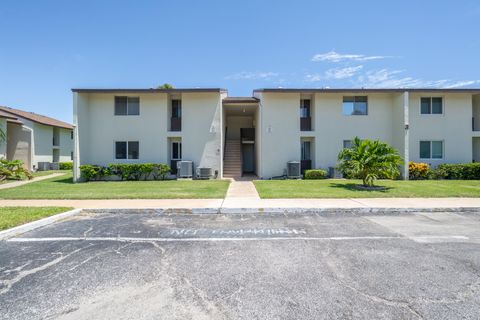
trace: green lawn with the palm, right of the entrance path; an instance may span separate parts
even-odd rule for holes
[[[380,180],[383,191],[355,188],[360,180],[257,180],[261,198],[435,198],[480,197],[480,180]]]

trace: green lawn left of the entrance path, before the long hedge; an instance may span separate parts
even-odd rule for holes
[[[225,180],[102,181],[73,183],[72,174],[0,190],[0,199],[223,198]]]

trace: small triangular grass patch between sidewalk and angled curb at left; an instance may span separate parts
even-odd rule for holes
[[[71,210],[66,207],[0,207],[0,230]]]

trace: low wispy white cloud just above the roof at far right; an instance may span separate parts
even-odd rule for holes
[[[425,80],[402,76],[401,70],[370,70],[358,77],[356,85],[365,88],[461,88],[480,83],[480,80]]]

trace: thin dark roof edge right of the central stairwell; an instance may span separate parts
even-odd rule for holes
[[[284,93],[342,93],[342,92],[379,92],[379,93],[401,93],[401,92],[457,92],[457,93],[480,93],[480,88],[262,88],[253,92],[284,92]]]

